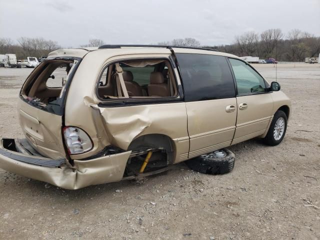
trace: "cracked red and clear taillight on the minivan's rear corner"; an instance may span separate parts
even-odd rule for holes
[[[69,154],[79,154],[92,148],[91,138],[81,128],[75,126],[63,127],[64,142]]]

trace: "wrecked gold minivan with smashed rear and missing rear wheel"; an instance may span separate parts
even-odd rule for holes
[[[239,57],[212,49],[59,49],[22,85],[25,138],[0,140],[0,167],[78,189],[225,156],[219,149],[253,137],[276,145],[291,105],[279,89]]]

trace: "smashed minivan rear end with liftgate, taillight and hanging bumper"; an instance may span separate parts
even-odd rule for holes
[[[83,129],[64,124],[68,88],[87,51],[75,53],[51,53],[25,80],[17,107],[25,138],[0,140],[1,168],[66,189],[122,178],[130,151],[87,160],[70,157],[93,148]]]

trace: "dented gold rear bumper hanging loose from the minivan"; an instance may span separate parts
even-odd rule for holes
[[[9,150],[3,145],[3,139],[0,139],[0,168],[65,189],[121,180],[131,153],[125,151],[90,160],[74,160],[74,166],[70,167],[63,160],[20,153],[15,147],[7,147]],[[47,166],[50,161],[60,161],[60,165]]]

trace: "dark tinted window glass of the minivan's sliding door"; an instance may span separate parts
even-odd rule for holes
[[[176,53],[185,101],[235,97],[231,70],[224,56]]]

